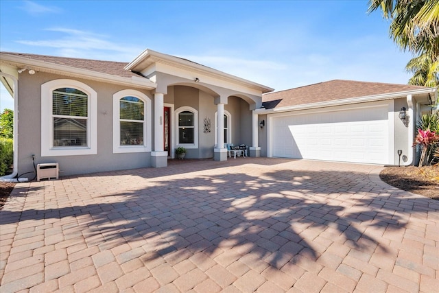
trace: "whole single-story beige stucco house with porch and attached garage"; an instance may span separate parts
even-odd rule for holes
[[[226,161],[228,143],[250,156],[388,165],[401,150],[410,165],[416,117],[437,98],[346,80],[273,92],[150,49],[128,64],[0,52],[0,78],[16,113],[10,177],[32,172],[32,156],[61,175],[166,167],[180,146]]]

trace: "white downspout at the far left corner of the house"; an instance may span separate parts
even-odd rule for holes
[[[8,73],[0,72],[0,75],[5,78],[10,78],[14,82],[14,133],[12,140],[14,141],[13,145],[13,151],[14,151],[14,159],[12,163],[12,173],[1,176],[0,181],[3,182],[26,182],[28,181],[27,178],[15,178],[19,174],[19,80],[15,78],[15,76],[10,75]]]

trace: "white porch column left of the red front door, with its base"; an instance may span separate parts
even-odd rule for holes
[[[152,167],[167,167],[167,152],[163,151],[163,93],[154,93],[154,151]]]

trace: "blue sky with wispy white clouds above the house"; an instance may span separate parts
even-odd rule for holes
[[[130,62],[144,49],[274,88],[406,84],[412,57],[368,1],[0,0],[0,50]],[[0,109],[12,108],[5,89]]]

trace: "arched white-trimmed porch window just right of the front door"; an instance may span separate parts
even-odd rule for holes
[[[198,148],[198,111],[191,107],[176,110],[177,145]]]

